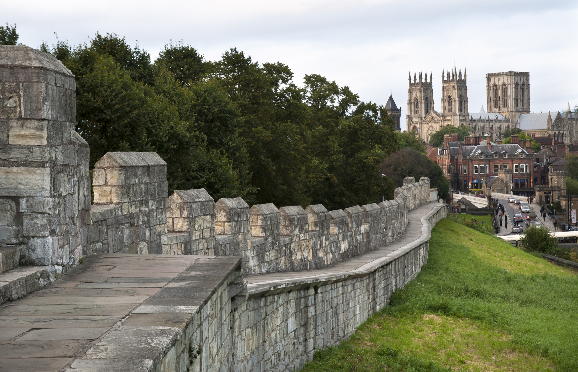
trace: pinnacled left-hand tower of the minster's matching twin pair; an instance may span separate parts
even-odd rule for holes
[[[427,115],[433,111],[433,88],[432,88],[432,73],[425,73],[419,79],[417,75],[409,74],[409,89],[407,89],[407,115],[406,124],[407,131],[414,131],[418,137],[423,138],[422,126],[423,120]]]

